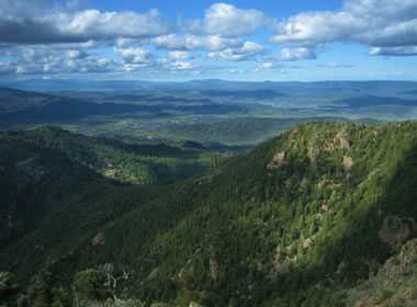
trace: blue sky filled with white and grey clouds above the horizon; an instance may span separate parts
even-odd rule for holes
[[[0,0],[0,80],[417,80],[417,0]]]

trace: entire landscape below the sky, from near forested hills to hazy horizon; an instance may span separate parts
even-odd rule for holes
[[[415,304],[416,86],[196,83],[0,90],[7,306]]]

